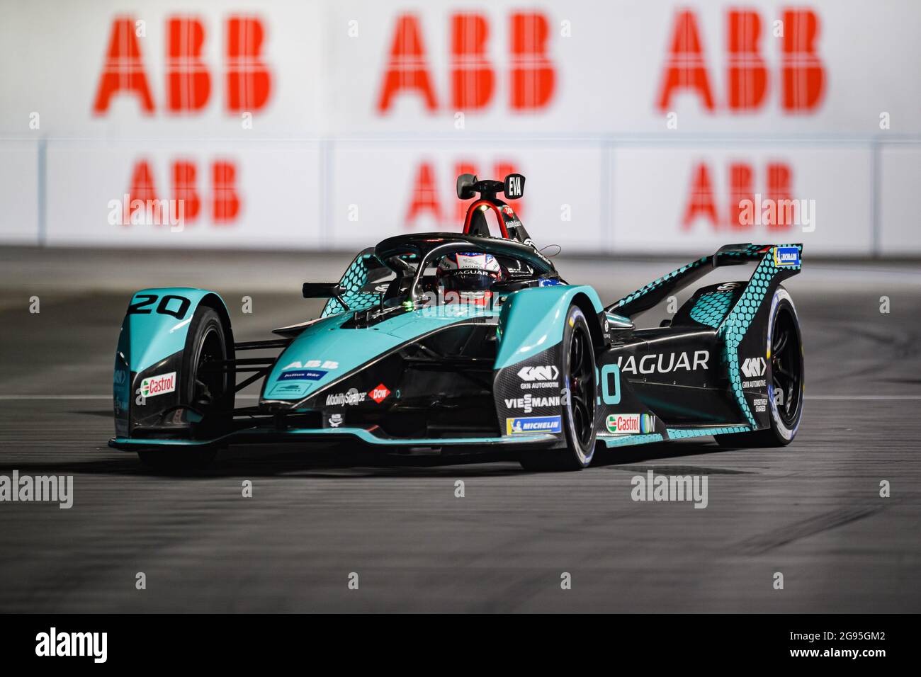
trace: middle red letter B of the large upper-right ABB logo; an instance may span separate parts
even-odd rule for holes
[[[767,92],[767,67],[758,51],[761,18],[757,12],[729,12],[730,111],[751,111],[761,106]]]

